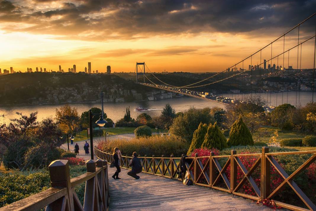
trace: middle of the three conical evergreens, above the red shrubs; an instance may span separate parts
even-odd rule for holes
[[[227,140],[225,136],[215,122],[214,125],[210,124],[207,128],[207,133],[205,134],[201,148],[216,148],[218,150],[222,150],[227,147],[226,142]]]

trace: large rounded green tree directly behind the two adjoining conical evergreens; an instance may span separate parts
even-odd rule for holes
[[[210,108],[196,109],[191,107],[174,119],[169,132],[175,136],[181,137],[191,144],[194,131],[200,123],[214,123],[213,116],[210,115]]]

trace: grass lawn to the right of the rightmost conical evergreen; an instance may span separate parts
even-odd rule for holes
[[[277,127],[272,127],[272,126],[265,126],[259,128],[258,132],[253,134],[253,140],[254,141],[263,141],[268,143],[270,138],[274,136],[275,132],[278,132],[278,137],[276,137],[276,140],[281,140],[281,139],[288,139],[288,138],[304,138],[306,135],[303,133],[299,133],[298,135],[294,131],[287,131],[287,130],[282,130]]]

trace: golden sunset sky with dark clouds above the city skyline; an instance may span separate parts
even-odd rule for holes
[[[130,72],[144,61],[151,71],[221,71],[315,8],[316,0],[0,0],[0,68],[57,71],[61,65],[68,71],[76,64],[84,71],[91,62],[92,70],[104,72],[111,65],[112,71]],[[300,39],[313,33],[315,18],[301,27]],[[288,38],[286,47],[297,44],[297,31]],[[303,45],[306,67],[313,44]],[[281,46],[283,39],[276,48]],[[296,64],[296,54],[290,55],[290,65]]]

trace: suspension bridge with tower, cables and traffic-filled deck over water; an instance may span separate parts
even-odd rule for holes
[[[219,90],[218,87],[230,84],[234,88],[242,88],[242,93],[256,93],[266,99],[264,109],[267,111],[277,106],[279,92],[281,95],[279,102],[282,104],[289,102],[291,91],[295,92],[293,104],[296,107],[301,106],[302,91],[312,92],[310,101],[314,102],[316,25],[310,22],[315,23],[315,14],[239,62],[223,71],[210,73],[209,77],[197,82],[180,86],[172,85],[150,71],[145,62],[137,62],[136,83],[224,105],[243,103],[242,99],[216,96],[212,93],[215,85],[217,91],[223,93],[224,91]],[[274,82],[276,79],[278,81]],[[205,91],[196,91],[197,88],[203,88]],[[234,91],[236,93],[240,89]],[[271,93],[276,93],[276,105],[271,104]]]

